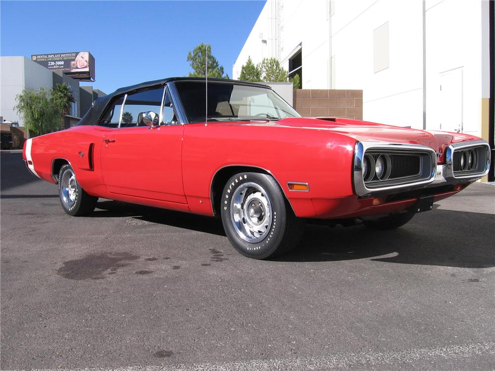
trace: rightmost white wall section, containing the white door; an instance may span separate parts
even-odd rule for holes
[[[485,79],[485,85],[490,80],[489,73],[483,76],[482,71],[482,4],[481,1],[426,1],[429,129],[462,129],[463,133],[481,135],[482,80]],[[446,75],[459,85],[460,96],[455,86],[444,84],[441,91],[440,86],[446,81],[442,76]],[[449,92],[449,88],[455,91]]]

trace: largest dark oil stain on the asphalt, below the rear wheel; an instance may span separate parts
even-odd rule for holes
[[[89,254],[81,259],[64,262],[56,274],[67,279],[102,279],[105,278],[102,276],[105,271],[116,272],[128,266],[128,262],[138,259],[139,256],[128,252]]]

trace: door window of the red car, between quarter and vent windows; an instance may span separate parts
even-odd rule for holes
[[[151,116],[158,119],[160,114],[163,87],[144,92],[128,94],[122,110],[121,128],[133,126],[147,126],[143,121],[143,114],[151,111]]]

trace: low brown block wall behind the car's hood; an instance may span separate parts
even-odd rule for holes
[[[363,119],[362,90],[297,89],[294,108],[301,116]]]

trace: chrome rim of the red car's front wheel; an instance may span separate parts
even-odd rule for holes
[[[263,187],[252,182],[238,186],[232,192],[230,216],[243,240],[262,241],[272,226],[272,206]]]

